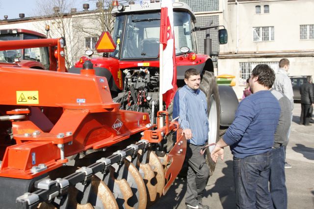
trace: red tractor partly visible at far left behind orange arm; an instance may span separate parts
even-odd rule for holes
[[[0,43],[1,41],[14,41],[14,40],[31,40],[31,39],[46,39],[44,34],[26,30],[26,29],[1,29],[0,30]],[[19,65],[25,68],[41,69],[41,70],[55,70],[57,63],[53,54],[54,48],[36,47],[14,50],[0,51],[0,62],[7,63],[7,65]]]

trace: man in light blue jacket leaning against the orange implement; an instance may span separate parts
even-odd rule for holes
[[[186,209],[208,209],[202,205],[202,196],[209,179],[209,167],[205,155],[200,151],[208,141],[209,121],[206,95],[199,87],[200,73],[189,69],[184,74],[185,86],[174,97],[173,118],[179,116],[179,124],[187,139],[186,159],[188,161]]]

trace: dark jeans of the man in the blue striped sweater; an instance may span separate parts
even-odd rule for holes
[[[268,190],[271,151],[234,157],[235,203],[238,209],[273,209]]]

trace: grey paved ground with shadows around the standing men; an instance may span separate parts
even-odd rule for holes
[[[314,125],[299,125],[301,105],[295,104],[286,168],[288,209],[314,209]],[[151,209],[185,209],[186,180],[178,178]],[[235,209],[232,154],[225,149],[224,161],[219,161],[210,177],[203,203],[210,209]]]

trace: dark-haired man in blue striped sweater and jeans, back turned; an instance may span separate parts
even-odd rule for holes
[[[243,99],[235,120],[219,139],[211,158],[223,159],[223,147],[230,145],[234,155],[236,207],[239,209],[273,209],[268,180],[271,147],[280,116],[280,105],[269,91],[275,73],[268,65],[258,65],[249,80],[253,94]]]

